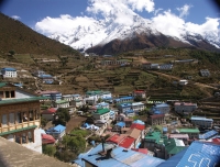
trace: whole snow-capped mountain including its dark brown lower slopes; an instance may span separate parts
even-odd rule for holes
[[[119,20],[119,14],[125,14],[124,20]],[[120,16],[123,18],[123,16]],[[99,52],[101,47],[109,45],[122,45],[123,51],[134,46],[125,46],[136,41],[136,48],[155,47],[155,46],[175,46],[175,47],[202,47],[205,49],[219,49],[220,48],[220,32],[204,32],[202,34],[190,32],[187,29],[180,29],[180,35],[163,34],[157,31],[156,26],[151,20],[144,19],[133,11],[120,11],[106,15],[103,19],[94,19],[85,16],[78,18],[81,24],[74,26],[70,31],[65,33],[54,33],[50,37],[67,44],[76,49],[90,52]],[[163,40],[156,40],[162,37]],[[141,38],[141,40],[140,40]],[[152,40],[154,38],[154,40]],[[123,42],[125,41],[125,42]],[[201,44],[202,43],[202,44]],[[139,47],[140,46],[140,47]],[[107,47],[107,46],[106,46]],[[112,46],[110,46],[112,47]],[[122,47],[122,46],[118,46]],[[127,48],[128,47],[128,48]],[[99,51],[98,51],[99,49]],[[118,52],[108,49],[108,53]],[[120,52],[120,51],[119,51]],[[100,53],[100,52],[99,52]],[[101,53],[107,53],[102,49]]]

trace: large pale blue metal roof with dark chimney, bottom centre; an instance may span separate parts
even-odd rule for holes
[[[110,158],[106,158],[99,154],[102,152],[101,144],[99,144],[89,153],[80,155],[80,158],[98,167],[146,167],[146,165],[147,167],[156,167],[164,162],[163,159],[147,156],[131,149],[124,151],[124,148],[120,146],[113,147],[113,145],[105,144],[106,149],[108,149],[107,147],[113,148],[111,152],[112,157]],[[82,163],[79,159],[74,162],[80,165]]]

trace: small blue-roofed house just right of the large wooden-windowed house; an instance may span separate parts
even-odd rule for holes
[[[46,134],[52,135],[55,140],[62,140],[62,137],[66,134],[66,126],[58,124],[55,127],[48,129]]]

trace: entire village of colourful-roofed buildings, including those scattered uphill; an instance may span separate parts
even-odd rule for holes
[[[130,66],[127,59],[105,59],[100,64]],[[173,65],[143,63],[140,68],[152,71],[170,70]],[[32,75],[45,85],[52,85],[56,80],[43,70],[35,70]],[[210,73],[202,69],[200,75],[209,77]],[[42,146],[45,145],[61,149],[65,136],[84,131],[86,147],[89,149],[80,153],[78,158],[70,159],[68,163],[72,166],[147,164],[152,167],[182,167],[190,166],[191,159],[198,164],[209,162],[211,166],[218,163],[220,122],[219,119],[202,115],[200,103],[168,98],[152,100],[143,89],[127,94],[117,94],[116,91],[106,89],[87,90],[85,93],[42,89],[31,92],[23,89],[21,82],[6,81],[18,77],[15,68],[1,68],[0,136],[29,149],[41,154]],[[175,82],[179,87],[188,84],[186,79]],[[218,111],[219,98],[219,92],[216,92],[208,100],[217,101]],[[64,112],[63,109],[70,119],[62,122],[63,124],[53,124],[61,119],[58,112]],[[81,121],[77,122],[78,118]],[[73,126],[69,122],[76,124]]]

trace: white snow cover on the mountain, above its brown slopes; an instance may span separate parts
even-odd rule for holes
[[[120,16],[119,16],[120,15]],[[78,24],[72,25],[70,31],[65,33],[54,33],[50,37],[67,44],[76,49],[86,51],[96,45],[105,45],[116,38],[133,38],[136,34],[145,33],[160,35],[164,34],[176,41],[194,45],[195,42],[207,41],[211,45],[220,48],[219,31],[207,30],[197,33],[189,31],[187,27],[177,27],[178,31],[163,31],[166,25],[157,26],[154,21],[144,19],[132,10],[114,9],[102,19],[88,16],[76,18]],[[178,26],[178,25],[177,25]],[[195,26],[189,24],[188,26]],[[194,29],[190,29],[194,30]]]

